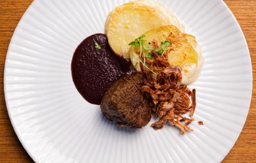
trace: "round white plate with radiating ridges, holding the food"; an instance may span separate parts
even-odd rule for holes
[[[204,50],[194,132],[166,125],[118,129],[87,103],[72,82],[77,45],[104,32],[106,17],[125,1],[36,0],[8,50],[4,91],[17,136],[36,162],[220,162],[243,128],[252,94],[248,47],[221,0],[161,0]]]

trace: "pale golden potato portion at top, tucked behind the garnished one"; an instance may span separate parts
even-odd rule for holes
[[[113,51],[129,58],[129,43],[144,32],[161,25],[179,25],[177,18],[166,10],[155,1],[141,0],[123,4],[111,11],[105,32]]]

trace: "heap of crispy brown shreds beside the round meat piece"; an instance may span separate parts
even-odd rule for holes
[[[155,76],[146,72],[142,64],[140,68],[144,78],[141,89],[149,97],[150,106],[159,118],[151,126],[157,130],[170,123],[178,127],[182,134],[193,131],[188,125],[194,121],[194,118],[186,118],[182,114],[189,112],[189,117],[193,116],[196,107],[196,90],[191,91],[186,85],[181,84],[180,67],[169,65]]]

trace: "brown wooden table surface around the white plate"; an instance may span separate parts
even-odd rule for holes
[[[211,0],[209,0],[211,1]],[[32,0],[0,0],[0,162],[33,162],[13,131],[4,101],[3,71],[6,51],[20,17]],[[241,25],[256,75],[256,0],[225,0]],[[253,83],[255,83],[255,78]],[[223,162],[256,162],[256,87],[243,132]],[[198,153],[200,154],[200,153]]]

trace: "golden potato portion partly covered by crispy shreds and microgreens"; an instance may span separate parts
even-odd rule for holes
[[[173,66],[182,67],[183,84],[188,85],[196,80],[204,63],[202,62],[204,58],[202,57],[202,50],[200,51],[200,46],[194,36],[182,34],[174,25],[157,27],[145,32],[144,35],[145,38],[143,39],[146,41],[143,43],[143,46],[148,46],[149,49],[154,48],[151,43],[154,39],[159,45],[161,42],[170,41],[172,45],[169,47],[172,50],[168,53],[168,62]],[[194,48],[198,48],[198,50],[196,51]],[[138,55],[136,53],[131,53],[131,55],[132,64],[135,66],[138,62]],[[140,71],[138,64],[136,65],[136,70]]]

